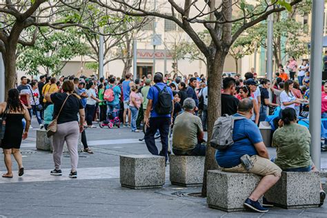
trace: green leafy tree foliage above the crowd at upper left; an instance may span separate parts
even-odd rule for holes
[[[40,28],[33,46],[19,46],[17,68],[29,75],[38,75],[42,67],[47,74],[58,75],[70,59],[86,55],[90,46],[83,43],[76,28],[55,31]]]

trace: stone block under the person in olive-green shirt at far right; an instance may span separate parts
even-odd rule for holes
[[[319,184],[319,172],[281,172],[281,179],[264,197],[282,208],[317,207]]]

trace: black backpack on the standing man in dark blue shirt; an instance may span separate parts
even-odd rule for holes
[[[162,90],[160,90],[159,86],[155,85],[157,88],[158,102],[155,106],[155,111],[158,115],[169,115],[172,112],[172,97],[167,90],[167,86],[165,86]]]

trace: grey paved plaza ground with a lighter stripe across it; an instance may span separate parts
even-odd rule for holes
[[[190,193],[201,187],[170,185],[169,167],[161,189],[131,190],[119,183],[119,155],[147,154],[138,138],[142,133],[129,128],[88,129],[90,148],[95,154],[79,154],[78,178],[68,177],[70,158],[63,155],[63,176],[50,176],[52,154],[35,149],[35,130],[23,141],[22,154],[26,174],[13,179],[0,178],[0,217],[327,217],[327,205],[321,208],[286,210],[273,208],[260,214],[223,212],[208,208],[206,199]],[[274,149],[269,149],[274,155]],[[0,172],[5,172],[0,155]],[[327,168],[327,152],[321,154]],[[13,162],[13,169],[17,164]]]

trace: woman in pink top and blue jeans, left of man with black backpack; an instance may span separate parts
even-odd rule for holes
[[[141,95],[137,94],[137,86],[133,85],[130,88],[130,112],[132,112],[130,128],[132,129],[132,132],[139,132],[136,126],[136,120],[137,115],[139,114],[139,107],[141,106],[142,102],[143,98]]]

